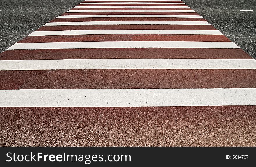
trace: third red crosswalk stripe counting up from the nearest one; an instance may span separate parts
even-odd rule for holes
[[[6,50],[0,60],[109,58],[199,58],[252,59],[242,49],[209,48],[103,48],[103,49],[35,49]]]

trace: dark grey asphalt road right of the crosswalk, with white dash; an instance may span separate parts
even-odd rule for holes
[[[183,0],[183,2],[256,59],[256,1]]]

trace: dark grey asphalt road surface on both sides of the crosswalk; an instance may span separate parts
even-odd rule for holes
[[[0,52],[82,1],[1,0]],[[256,59],[256,1],[183,1]]]

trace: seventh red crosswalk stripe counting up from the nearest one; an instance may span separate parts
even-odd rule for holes
[[[108,14],[160,14],[160,15],[196,15],[199,16],[198,13],[195,12],[66,12],[61,15],[108,15]]]

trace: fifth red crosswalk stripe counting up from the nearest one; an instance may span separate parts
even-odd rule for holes
[[[216,30],[212,25],[58,25],[42,26],[36,31],[56,30]]]

